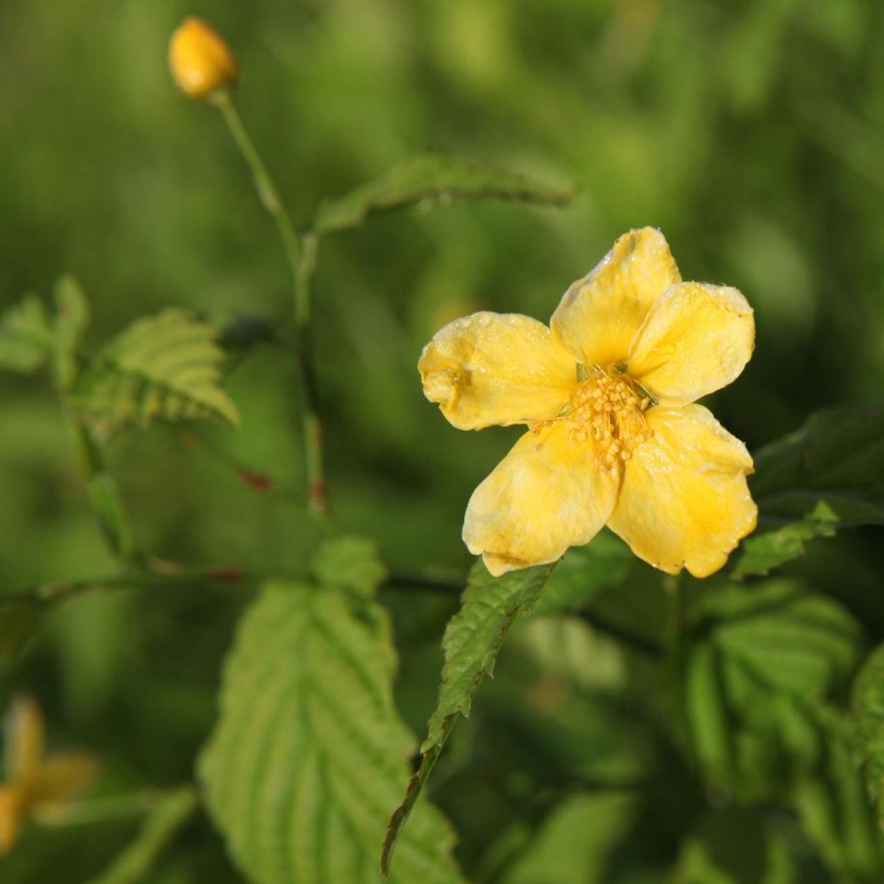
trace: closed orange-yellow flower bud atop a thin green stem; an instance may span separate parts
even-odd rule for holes
[[[202,19],[185,19],[171,35],[169,69],[178,88],[204,98],[236,80],[239,65],[227,44]]]

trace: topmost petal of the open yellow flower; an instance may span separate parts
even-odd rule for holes
[[[587,365],[623,362],[648,308],[681,278],[659,230],[625,233],[565,293],[552,314],[552,331]]]

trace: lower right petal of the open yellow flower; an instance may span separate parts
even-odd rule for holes
[[[627,463],[608,527],[669,574],[705,577],[755,528],[746,446],[708,408],[651,408],[652,438]]]

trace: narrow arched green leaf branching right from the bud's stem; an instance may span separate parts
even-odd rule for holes
[[[329,233],[361,225],[373,215],[419,205],[448,205],[455,200],[513,200],[561,205],[569,191],[545,187],[513,172],[456,156],[417,156],[337,200],[324,202],[314,230]]]

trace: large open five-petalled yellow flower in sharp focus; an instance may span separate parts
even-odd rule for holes
[[[704,577],[755,528],[743,443],[695,400],[749,362],[752,310],[682,282],[662,233],[614,243],[550,327],[474,313],[438,331],[418,370],[460,430],[529,427],[469,499],[463,540],[492,575],[555,561],[603,525],[669,574]]]

